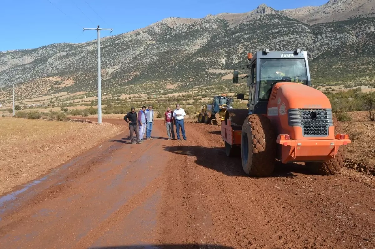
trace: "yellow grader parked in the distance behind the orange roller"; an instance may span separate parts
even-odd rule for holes
[[[226,110],[233,109],[233,98],[229,98],[226,94],[214,96],[212,104],[206,104],[202,107],[201,112],[197,112],[198,122],[208,124],[211,121],[221,126],[221,121],[225,118]]]

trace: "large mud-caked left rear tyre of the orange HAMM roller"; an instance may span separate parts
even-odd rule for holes
[[[273,173],[276,139],[276,132],[266,116],[252,114],[245,119],[241,135],[241,159],[246,174],[267,177]]]

